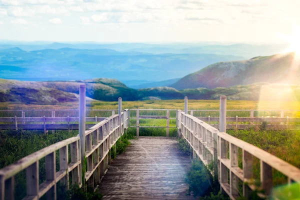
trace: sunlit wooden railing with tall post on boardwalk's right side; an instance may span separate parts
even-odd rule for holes
[[[272,189],[272,168],[286,175],[288,183],[300,182],[299,168],[225,133],[225,96],[221,96],[220,107],[224,107],[219,110],[220,131],[198,117],[187,114],[187,110],[185,112],[178,110],[177,120],[180,124],[178,136],[188,142],[193,151],[193,158],[200,159],[205,165],[214,163],[214,170],[211,173],[217,175],[223,192],[227,193],[231,199],[236,199],[238,196],[249,198],[250,191],[255,189],[252,173],[254,157],[260,160],[261,189],[265,191],[266,195],[269,195]],[[238,148],[242,150],[242,168],[238,166]],[[242,194],[238,192],[238,180],[243,183]],[[263,196],[264,194],[259,195]]]

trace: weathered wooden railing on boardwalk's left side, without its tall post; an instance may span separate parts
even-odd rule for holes
[[[85,130],[86,168],[83,167],[80,155],[79,136],[74,136],[38,150],[17,162],[0,169],[0,200],[14,199],[14,176],[26,170],[26,197],[38,199],[46,193],[47,199],[56,199],[56,183],[62,180],[68,188],[68,177],[71,173],[72,183],[82,185],[84,181],[90,186],[98,184],[101,176],[108,168],[108,151],[116,140],[124,133],[128,124],[128,109],[105,118],[101,122]],[[124,117],[125,116],[125,117]],[[121,117],[121,120],[119,120]],[[121,121],[121,122],[120,122]],[[125,121],[125,123],[124,123]],[[70,144],[71,160],[68,161],[68,145]],[[59,150],[59,170],[55,170],[55,152]],[[45,157],[46,179],[39,184],[38,162]]]

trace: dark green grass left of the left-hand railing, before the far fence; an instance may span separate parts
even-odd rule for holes
[[[75,136],[78,131],[55,131],[55,133],[43,134],[43,131],[1,130],[0,131],[0,168],[49,146],[58,141]],[[70,151],[70,148],[69,148]],[[70,156],[70,152],[68,153]],[[38,162],[39,183],[43,182],[45,176],[45,158]],[[56,169],[59,169],[59,153],[56,152]],[[25,170],[15,175],[15,198],[21,199],[25,196],[26,173]]]

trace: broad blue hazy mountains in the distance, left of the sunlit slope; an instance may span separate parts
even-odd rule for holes
[[[53,44],[54,45],[54,44]],[[62,46],[60,44],[56,44]],[[102,49],[0,49],[0,78],[74,80],[165,80],[182,77],[217,61],[242,57],[216,54],[146,54]]]

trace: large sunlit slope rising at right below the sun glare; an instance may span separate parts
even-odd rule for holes
[[[170,85],[176,89],[229,87],[255,82],[299,84],[300,62],[295,53],[258,56],[249,60],[208,65]]]

